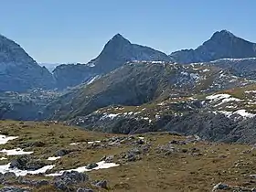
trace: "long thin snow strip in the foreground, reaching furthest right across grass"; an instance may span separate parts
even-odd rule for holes
[[[106,163],[105,161],[101,161],[96,163],[98,166],[92,169],[87,169],[86,166],[80,166],[78,168],[75,169],[69,169],[69,170],[62,170],[59,171],[58,173],[55,174],[48,174],[46,176],[61,176],[64,172],[71,172],[71,171],[77,171],[77,172],[88,172],[91,170],[99,170],[99,169],[106,169],[106,168],[111,168],[111,167],[115,167],[115,166],[119,166],[118,164],[114,164],[114,163]]]

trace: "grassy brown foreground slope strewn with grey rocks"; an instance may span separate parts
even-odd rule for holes
[[[1,144],[5,151],[20,147],[25,152],[33,152],[30,155],[0,152],[0,172],[8,162],[14,166],[9,171],[16,174],[16,167],[24,172],[27,166],[33,165],[35,170],[42,165],[53,166],[38,175],[1,175],[0,191],[7,187],[37,192],[82,188],[101,192],[218,191],[223,186],[225,191],[250,191],[255,187],[256,152],[251,145],[213,144],[197,135],[185,137],[172,133],[130,136],[92,133],[58,123],[0,124],[1,135],[18,136]],[[61,156],[48,160],[57,155]],[[84,165],[95,167],[95,162],[101,160],[117,166],[50,176],[59,170]],[[64,182],[67,180],[69,182]]]

